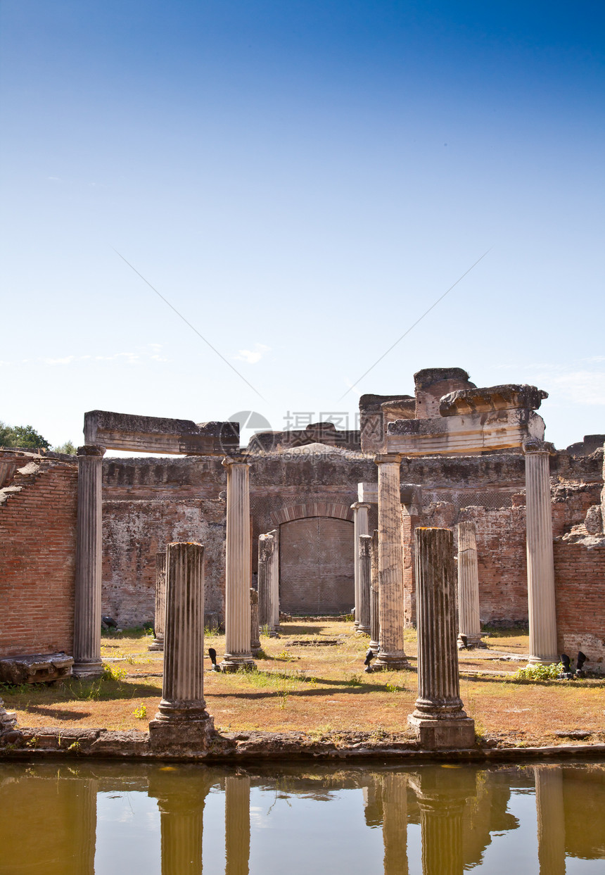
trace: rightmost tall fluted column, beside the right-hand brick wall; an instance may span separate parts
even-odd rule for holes
[[[530,665],[559,662],[554,601],[553,512],[548,457],[553,444],[528,440],[525,452],[527,601]]]

